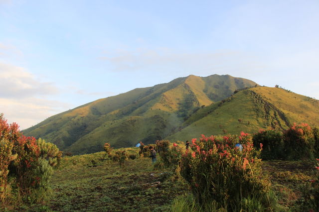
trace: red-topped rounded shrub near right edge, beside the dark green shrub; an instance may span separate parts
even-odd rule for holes
[[[314,159],[315,137],[307,123],[294,123],[284,132],[283,139],[286,159]]]

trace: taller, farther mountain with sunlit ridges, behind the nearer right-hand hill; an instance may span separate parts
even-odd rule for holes
[[[174,135],[179,130],[199,121],[198,114],[231,97],[236,90],[255,86],[253,81],[229,75],[190,75],[78,106],[23,133],[41,137],[73,154],[101,151],[105,142],[116,148],[139,141],[154,143],[169,136],[177,138]]]

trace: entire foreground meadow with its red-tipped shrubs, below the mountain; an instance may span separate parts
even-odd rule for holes
[[[61,159],[54,144],[23,136],[1,115],[0,209],[316,211],[318,132],[303,123],[283,132],[202,135],[186,150],[183,142],[158,140],[151,164],[143,142],[122,149],[105,143],[105,152]]]

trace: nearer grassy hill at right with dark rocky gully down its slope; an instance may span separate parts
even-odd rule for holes
[[[319,101],[280,88],[255,87],[199,109],[167,139],[287,129],[294,122],[319,125]]]

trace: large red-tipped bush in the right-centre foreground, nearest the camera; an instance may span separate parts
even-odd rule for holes
[[[235,147],[237,139],[242,151]],[[241,132],[237,138],[224,136],[222,140],[202,135],[199,140],[192,139],[190,148],[181,157],[180,174],[199,204],[215,203],[219,208],[239,211],[253,199],[260,207],[269,207],[265,200],[270,182],[263,177],[260,151],[253,148],[250,134]]]

